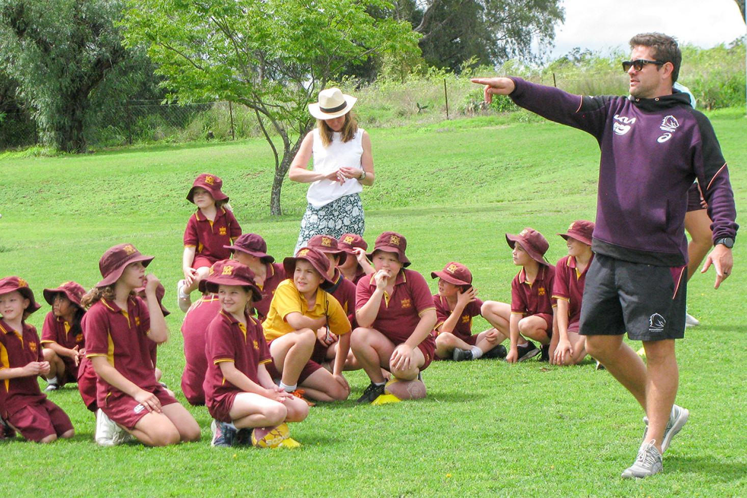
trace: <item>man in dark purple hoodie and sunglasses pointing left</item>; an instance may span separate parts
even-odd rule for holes
[[[486,101],[508,95],[523,108],[594,135],[601,149],[594,262],[586,275],[580,333],[586,350],[639,402],[646,428],[636,461],[623,477],[662,470],[661,455],[689,412],[675,405],[675,339],[684,336],[687,190],[698,180],[713,221],[705,271],[716,288],[731,273],[737,235],[734,192],[707,118],[672,85],[682,55],[659,33],[630,40],[630,96],[577,96],[520,78],[473,79]],[[647,363],[630,346],[640,340]]]

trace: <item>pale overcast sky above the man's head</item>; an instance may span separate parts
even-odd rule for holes
[[[553,57],[574,47],[606,50],[623,46],[636,33],[660,31],[680,43],[704,48],[745,34],[734,0],[561,0],[565,24],[556,28]],[[707,7],[706,7],[707,6]]]

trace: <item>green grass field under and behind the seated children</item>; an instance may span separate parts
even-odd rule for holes
[[[710,115],[731,165],[737,207],[747,200],[743,110]],[[367,188],[366,239],[403,233],[412,267],[428,276],[451,260],[471,268],[483,299],[508,301],[512,265],[503,234],[531,226],[565,255],[555,235],[593,219],[598,147],[553,123],[500,117],[447,121],[428,129],[371,129],[376,185]],[[131,242],[157,256],[149,266],[167,287],[171,338],[159,349],[164,381],[179,391],[184,366],[175,285],[185,200],[203,172],[223,190],[245,233],[290,255],[306,185],[286,182],[285,215],[270,218],[270,152],[264,141],[120,150],[89,156],[0,160],[0,276],[45,287],[99,280],[104,250]],[[738,220],[740,221],[740,220]],[[211,449],[210,417],[190,408],[202,441],[149,449],[101,448],[94,418],[75,387],[49,397],[75,424],[72,440],[0,443],[4,497],[745,497],[747,428],[745,252],[722,289],[713,271],[689,286],[689,310],[703,325],[678,342],[678,404],[691,411],[664,458],[665,473],[624,481],[640,443],[642,412],[607,372],[530,360],[434,363],[428,397],[380,407],[352,399],[368,384],[347,375],[347,402],[320,404],[291,426],[295,450]],[[436,282],[430,280],[435,291]],[[48,306],[29,320],[40,331]],[[477,324],[479,328],[483,323]],[[184,401],[180,392],[179,399]]]

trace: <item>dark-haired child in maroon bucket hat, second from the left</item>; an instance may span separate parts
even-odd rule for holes
[[[78,382],[78,366],[86,354],[81,328],[86,313],[81,299],[85,293],[81,284],[72,281],[57,289],[44,289],[44,300],[52,306],[42,326],[42,353],[49,361],[46,392]]]

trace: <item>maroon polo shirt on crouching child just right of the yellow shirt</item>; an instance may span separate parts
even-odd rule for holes
[[[376,290],[376,280],[373,275],[363,277],[356,288],[356,310],[360,310],[368,303]],[[394,291],[391,295],[381,298],[379,314],[371,328],[383,333],[395,345],[405,342],[415,331],[424,311],[433,310],[433,296],[423,275],[417,271],[403,268],[394,281]],[[433,334],[426,339],[433,341]]]

